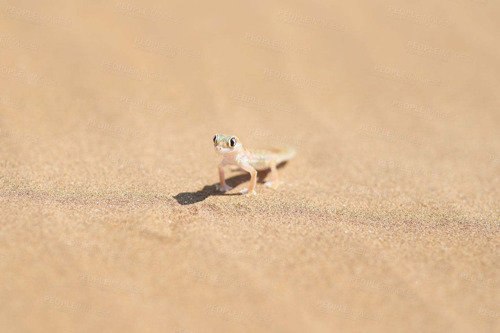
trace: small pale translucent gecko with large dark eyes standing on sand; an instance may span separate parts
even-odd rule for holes
[[[295,149],[286,148],[280,151],[247,149],[241,144],[238,137],[227,134],[215,134],[213,137],[213,149],[219,155],[223,155],[222,162],[218,166],[220,185],[216,188],[219,191],[225,192],[232,189],[225,183],[224,166],[237,165],[239,168],[250,173],[250,185],[240,191],[241,194],[256,195],[255,183],[257,182],[257,169],[271,169],[272,180],[265,182],[265,185],[270,188],[276,188],[280,182],[276,165],[287,161],[295,156]]]

